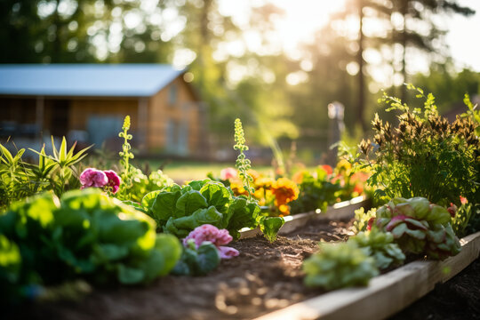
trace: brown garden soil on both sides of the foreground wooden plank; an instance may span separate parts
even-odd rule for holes
[[[237,241],[240,256],[208,276],[166,276],[145,287],[95,288],[83,300],[30,304],[13,319],[252,319],[323,293],[302,284],[319,241],[348,237],[347,221],[312,221],[274,244]],[[392,319],[480,319],[480,261]]]

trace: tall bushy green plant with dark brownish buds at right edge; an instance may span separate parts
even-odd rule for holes
[[[378,187],[375,196],[425,196],[444,206],[460,206],[460,196],[476,202],[480,142],[475,116],[465,114],[450,124],[438,115],[431,93],[425,95],[412,84],[408,89],[425,100],[423,109],[410,108],[401,100],[384,95],[382,101],[390,105],[388,110],[400,112],[399,123],[393,128],[375,116],[374,144],[370,140],[360,144],[365,156],[360,160],[362,165],[372,167],[369,184]],[[374,156],[373,162],[370,156]]]

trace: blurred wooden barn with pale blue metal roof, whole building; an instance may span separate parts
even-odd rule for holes
[[[129,115],[140,153],[198,156],[205,111],[188,76],[163,64],[0,65],[0,138],[111,147]]]

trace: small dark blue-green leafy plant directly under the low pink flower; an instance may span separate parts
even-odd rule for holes
[[[189,239],[183,248],[180,260],[172,270],[179,276],[204,276],[220,264],[220,253],[212,243],[204,241],[196,248],[195,240]]]

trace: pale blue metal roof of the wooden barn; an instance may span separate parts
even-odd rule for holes
[[[0,94],[149,97],[182,72],[164,64],[0,65]]]

